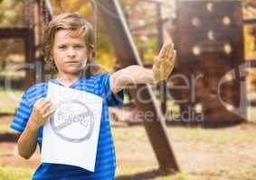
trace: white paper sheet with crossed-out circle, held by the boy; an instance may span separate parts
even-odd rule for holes
[[[56,111],[43,126],[42,162],[94,172],[102,98],[51,82],[47,97]]]

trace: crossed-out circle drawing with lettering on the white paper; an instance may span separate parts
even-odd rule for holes
[[[94,128],[94,117],[90,108],[79,100],[61,101],[50,117],[54,133],[70,142],[90,139]]]

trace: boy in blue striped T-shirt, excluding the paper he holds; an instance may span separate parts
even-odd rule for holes
[[[86,91],[103,98],[100,135],[97,148],[95,172],[78,166],[42,163],[33,179],[114,179],[116,158],[109,126],[108,107],[122,105],[122,89],[128,84],[146,84],[165,80],[173,70],[175,50],[167,43],[155,59],[152,69],[129,66],[109,75],[92,74],[94,56],[93,31],[90,23],[80,14],[60,14],[54,17],[44,31],[45,59],[58,69],[52,83]],[[86,69],[86,76],[83,72]],[[54,112],[52,103],[46,99],[48,83],[31,86],[23,95],[11,128],[21,133],[18,139],[19,155],[28,159],[37,143],[42,148],[43,124]],[[86,153],[86,152],[84,152]]]

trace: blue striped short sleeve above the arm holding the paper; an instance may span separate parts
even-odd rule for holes
[[[31,112],[32,107],[28,103],[26,94],[24,94],[17,112],[14,115],[14,121],[11,123],[10,128],[18,132],[23,132]]]

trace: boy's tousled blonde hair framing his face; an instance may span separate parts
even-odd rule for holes
[[[52,18],[43,33],[43,54],[46,62],[50,62],[53,67],[55,66],[52,58],[52,47],[54,42],[55,33],[60,30],[71,30],[71,35],[74,37],[83,37],[86,48],[88,50],[87,64],[90,66],[86,69],[86,75],[91,74],[92,59],[95,57],[94,36],[92,25],[81,17],[78,13],[65,13],[59,14]]]

